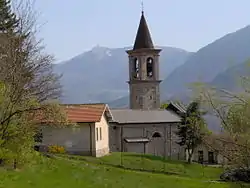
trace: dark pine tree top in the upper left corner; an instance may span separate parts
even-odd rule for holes
[[[10,0],[0,0],[0,33],[13,31],[18,25],[18,19],[10,4]]]

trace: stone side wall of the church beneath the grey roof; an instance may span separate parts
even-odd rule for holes
[[[115,128],[114,128],[115,127]],[[117,151],[138,151],[142,152],[141,144],[125,143],[124,138],[142,138],[150,139],[145,145],[145,151],[148,154],[159,155],[166,158],[185,160],[185,151],[176,141],[178,136],[175,134],[177,124],[110,124],[110,149],[111,152]],[[153,138],[154,133],[160,133],[160,138]],[[131,146],[128,146],[131,144]],[[133,146],[132,146],[133,145]],[[138,147],[138,148],[136,148]]]

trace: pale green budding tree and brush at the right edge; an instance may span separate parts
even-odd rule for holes
[[[220,120],[223,134],[228,137],[217,139],[224,146],[219,153],[233,167],[249,168],[250,80],[248,77],[240,77],[240,80],[242,90],[237,93],[202,83],[195,89],[199,90],[201,101],[211,115]]]

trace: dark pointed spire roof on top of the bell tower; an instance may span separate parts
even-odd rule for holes
[[[151,35],[148,29],[144,13],[142,12],[133,50],[144,49],[144,48],[152,49],[154,48],[154,45],[151,39]]]

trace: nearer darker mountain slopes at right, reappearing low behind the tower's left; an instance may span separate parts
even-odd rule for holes
[[[241,90],[238,78],[250,75],[249,49],[250,26],[247,26],[190,53],[186,62],[172,69],[161,83],[161,100],[187,103],[192,95],[189,86],[193,82],[205,82],[230,91]],[[128,101],[127,95],[109,102],[109,105],[128,107]]]

